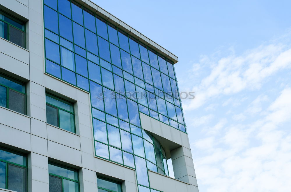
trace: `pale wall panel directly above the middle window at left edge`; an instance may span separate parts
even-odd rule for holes
[[[1,49],[1,48],[0,48]],[[29,79],[29,65],[0,52],[0,68]]]

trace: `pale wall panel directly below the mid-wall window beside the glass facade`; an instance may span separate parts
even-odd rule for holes
[[[80,136],[49,124],[47,124],[47,139],[77,150],[81,150]]]

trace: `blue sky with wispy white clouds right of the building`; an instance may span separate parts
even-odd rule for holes
[[[95,2],[179,57],[200,192],[290,191],[291,1]]]

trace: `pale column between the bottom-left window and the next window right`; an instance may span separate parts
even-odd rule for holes
[[[47,156],[37,153],[28,155],[28,191],[49,192],[49,170]]]

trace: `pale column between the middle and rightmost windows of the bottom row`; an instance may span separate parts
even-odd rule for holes
[[[97,175],[95,171],[82,168],[79,171],[80,175],[80,191],[81,192],[97,192]]]

